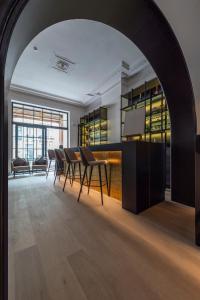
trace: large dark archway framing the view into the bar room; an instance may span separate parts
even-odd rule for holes
[[[48,6],[46,5],[48,3]],[[26,5],[26,6],[25,6]],[[25,7],[25,9],[24,9]],[[48,7],[48,11],[46,10]],[[24,10],[23,10],[24,9]],[[35,13],[37,11],[37,14]],[[13,41],[12,63],[5,62],[15,24],[23,28],[20,39]],[[24,17],[24,18],[23,18]],[[41,30],[58,21],[82,18],[110,25],[125,34],[144,53],[157,73],[166,97],[172,123],[172,199],[195,204],[195,136],[196,116],[192,85],[185,59],[166,19],[152,0],[126,1],[55,1],[5,0],[1,4],[0,85],[1,85],[1,216],[4,216],[4,247],[7,253],[7,114],[4,79],[9,82],[17,58],[26,44]],[[26,23],[27,22],[27,23]],[[31,26],[30,26],[31,25]],[[33,26],[34,25],[34,26]],[[8,53],[9,54],[9,53]],[[5,87],[6,89],[6,87]],[[6,91],[6,90],[5,90]],[[4,101],[3,101],[4,99]],[[185,170],[184,176],[181,170]],[[200,244],[196,200],[196,242]],[[1,255],[1,258],[3,255]],[[7,265],[4,260],[4,272]],[[5,296],[4,296],[5,297]]]

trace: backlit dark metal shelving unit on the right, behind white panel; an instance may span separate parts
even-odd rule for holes
[[[145,107],[143,135],[123,136],[126,111]],[[121,96],[121,140],[162,142],[170,145],[171,126],[167,101],[159,83],[153,79]]]

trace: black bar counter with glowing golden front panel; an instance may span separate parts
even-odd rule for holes
[[[122,201],[124,209],[138,214],[164,200],[163,144],[137,141],[89,149],[96,159],[108,161],[110,196]],[[107,193],[105,186],[103,191]]]

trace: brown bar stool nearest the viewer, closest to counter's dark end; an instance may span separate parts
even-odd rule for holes
[[[107,192],[109,193],[109,186],[108,186],[108,175],[107,175],[107,161],[106,160],[96,160],[93,153],[85,147],[80,147],[80,154],[81,154],[81,159],[83,162],[83,165],[85,167],[84,169],[84,174],[82,177],[81,181],[81,187],[80,187],[80,192],[77,201],[79,202],[80,196],[82,193],[83,185],[84,185],[84,180],[85,177],[87,176],[87,170],[90,168],[90,174],[89,174],[89,182],[87,183],[88,185],[88,194],[90,192],[90,186],[91,186],[91,179],[92,179],[92,172],[94,167],[98,167],[98,173],[99,173],[99,187],[101,190],[101,203],[103,205],[103,184],[102,184],[102,177],[101,177],[101,166],[104,166],[105,169],[105,176],[106,176],[106,186],[107,186]]]

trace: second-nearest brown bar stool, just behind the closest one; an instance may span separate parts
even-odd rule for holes
[[[76,166],[78,165],[79,167],[79,179],[81,182],[81,160],[77,158],[76,153],[74,152],[74,150],[70,149],[70,148],[65,148],[64,149],[64,154],[65,154],[65,159],[66,162],[68,163],[68,168],[67,168],[67,172],[65,175],[65,182],[64,182],[64,186],[63,186],[63,192],[65,190],[65,185],[67,182],[67,178],[69,175],[70,178],[70,183],[71,186],[73,185],[74,180],[76,179]],[[71,176],[71,171],[72,171],[72,176]]]

